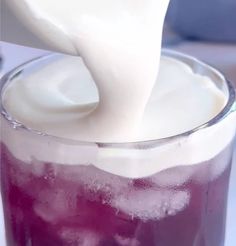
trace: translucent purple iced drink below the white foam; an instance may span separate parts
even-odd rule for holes
[[[223,246],[230,152],[126,179],[92,166],[26,164],[3,145],[8,246]]]

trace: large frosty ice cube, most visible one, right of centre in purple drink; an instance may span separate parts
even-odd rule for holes
[[[147,221],[176,215],[189,201],[187,190],[147,189],[117,196],[112,206],[131,217]]]

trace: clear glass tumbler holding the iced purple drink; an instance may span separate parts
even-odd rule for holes
[[[214,119],[178,136],[119,144],[73,141],[29,129],[2,106],[8,246],[224,245],[235,91],[210,66],[172,51],[164,55],[211,77],[228,98]],[[61,56],[16,68],[2,79],[2,94],[55,59]]]

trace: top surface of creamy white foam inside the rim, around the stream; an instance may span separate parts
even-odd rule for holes
[[[127,90],[132,94],[132,88]],[[120,134],[117,138],[112,128],[117,126],[119,131],[117,124],[121,122],[111,123],[106,117],[101,118],[107,126],[106,134],[103,131],[95,134],[90,126],[101,130],[98,121],[88,122],[88,118],[93,117],[99,107],[98,100],[91,75],[82,60],[75,57],[52,59],[40,70],[12,82],[3,96],[5,109],[27,127],[53,136],[91,142],[144,141],[189,131],[216,116],[225,106],[226,96],[210,78],[194,74],[180,61],[162,57],[159,76],[136,135]],[[109,107],[109,102],[107,104]],[[122,111],[129,114],[130,109],[125,106]],[[109,117],[115,120],[116,113],[113,111]],[[122,124],[126,124],[127,117]]]

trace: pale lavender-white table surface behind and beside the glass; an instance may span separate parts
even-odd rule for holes
[[[30,60],[34,57],[47,54],[47,51],[26,48],[23,46],[12,45],[1,42],[0,53],[3,55],[4,63],[1,74],[9,71],[11,68]],[[180,42],[174,46],[176,50],[194,55],[226,74],[227,78],[234,82],[236,86],[236,45],[222,45],[210,43],[191,43]],[[0,76],[1,76],[0,74]],[[235,148],[236,149],[236,148]],[[2,216],[2,205],[0,204],[0,246],[4,246],[4,226]],[[228,216],[226,227],[225,246],[236,245],[236,151],[233,163],[233,169],[230,180]],[[180,246],[180,245],[178,245]],[[212,245],[214,246],[214,245]]]

